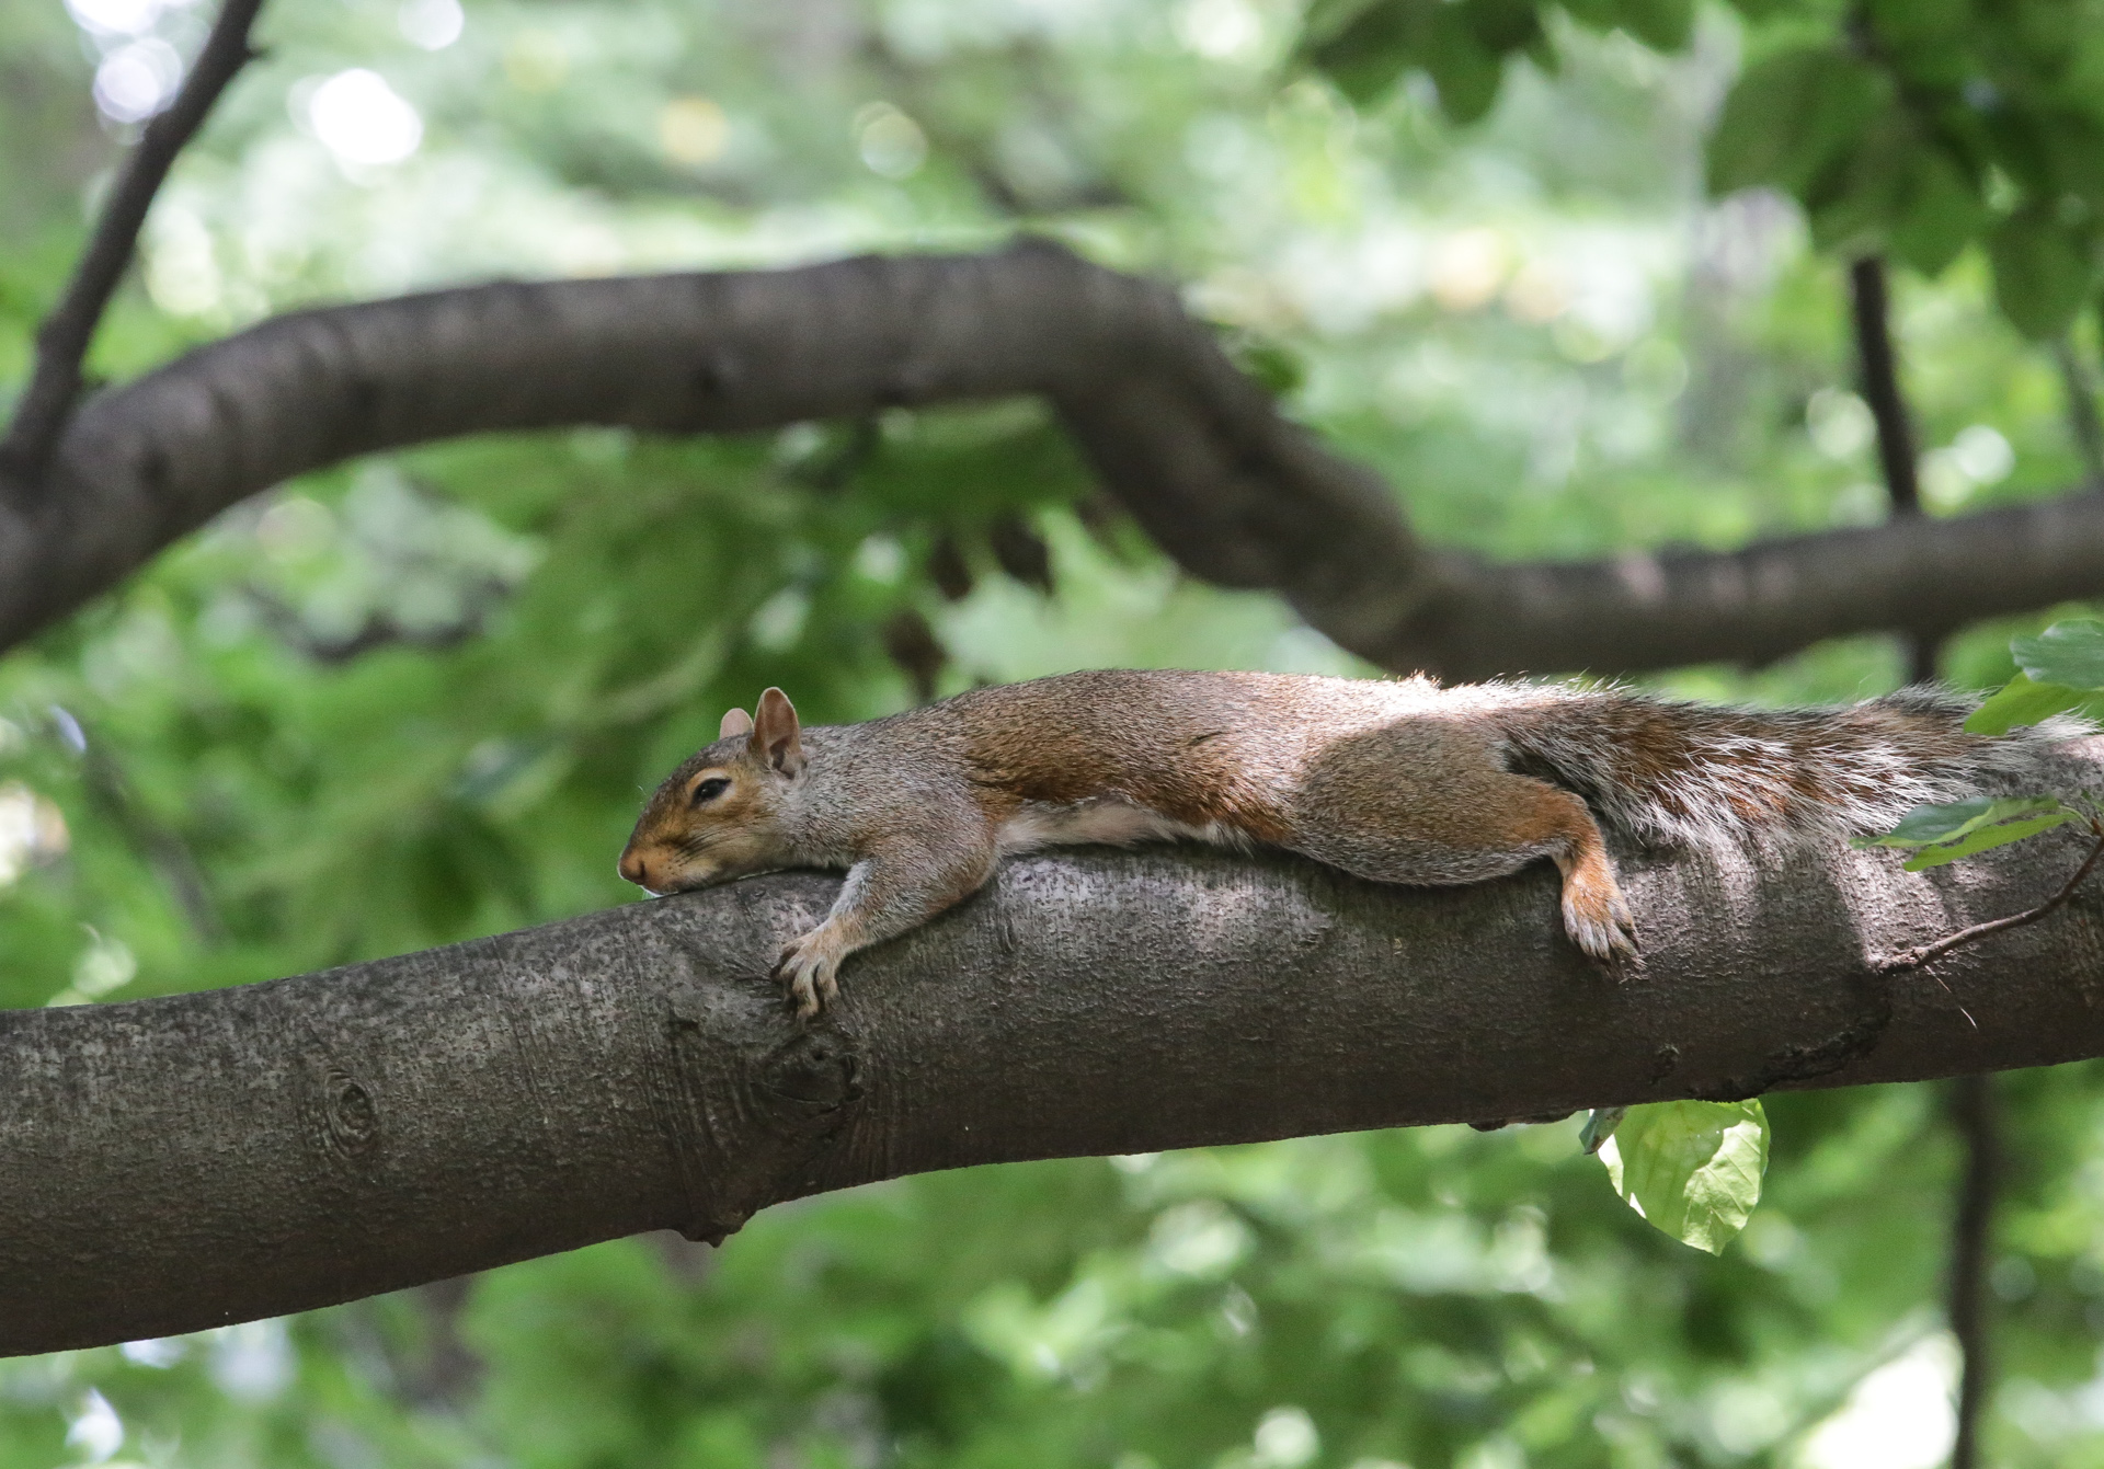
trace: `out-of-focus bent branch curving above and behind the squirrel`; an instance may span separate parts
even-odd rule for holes
[[[978,257],[442,290],[252,326],[86,402],[55,492],[0,507],[0,646],[227,505],[353,455],[570,423],[667,434],[1039,394],[1191,572],[1283,593],[1393,669],[1761,663],[2104,589],[2104,497],[1494,566],[1433,551],[1283,421],[1168,288],[1046,244]]]

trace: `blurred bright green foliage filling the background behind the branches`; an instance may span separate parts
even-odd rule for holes
[[[202,23],[0,0],[0,383],[126,99]],[[1031,227],[1189,282],[1439,541],[1729,547],[1883,516],[1837,265],[1875,244],[1929,271],[1896,280],[1927,507],[1980,509],[2085,474],[2093,311],[2066,362],[2026,333],[2087,288],[2100,38],[2047,0],[282,4],[93,366],[307,301]],[[2003,684],[2047,621],[1963,633],[1948,676]],[[852,720],[1119,663],[1353,671],[1180,579],[1029,404],[311,476],[0,661],[0,1002],[619,903],[640,793],[764,684]],[[1902,667],[1862,638],[1656,682],[1849,699]],[[2104,1465],[2096,1075],[2001,1084],[1999,1465]],[[1576,1122],[972,1170],[713,1252],[0,1364],[0,1469],[1936,1463],[1936,1092],[1767,1111],[1767,1193],[1715,1261],[1624,1208]]]

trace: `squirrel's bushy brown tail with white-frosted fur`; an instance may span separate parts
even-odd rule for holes
[[[1666,844],[1887,831],[1910,808],[2051,783],[2054,718],[1967,734],[1971,705],[1923,686],[1841,709],[1738,709],[1622,688],[1515,688],[1492,711],[1513,770],[1574,789],[1612,827]]]

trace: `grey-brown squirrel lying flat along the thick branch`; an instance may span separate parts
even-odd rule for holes
[[[783,867],[846,869],[774,968],[806,1019],[839,964],[962,903],[1002,857],[1191,840],[1283,848],[1359,878],[1464,884],[1536,859],[1593,960],[1637,949],[1601,821],[1715,846],[1889,829],[1988,777],[2039,774],[2047,722],[1967,734],[1934,688],[1744,709],[1582,684],[1088,671],[800,728],[781,688],[650,796],[621,876],[652,897]]]

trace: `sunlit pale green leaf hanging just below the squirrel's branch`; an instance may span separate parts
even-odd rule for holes
[[[1656,1229],[1723,1254],[1761,1202],[1767,1113],[1757,1099],[1631,1107],[1599,1158],[1614,1191]]]

